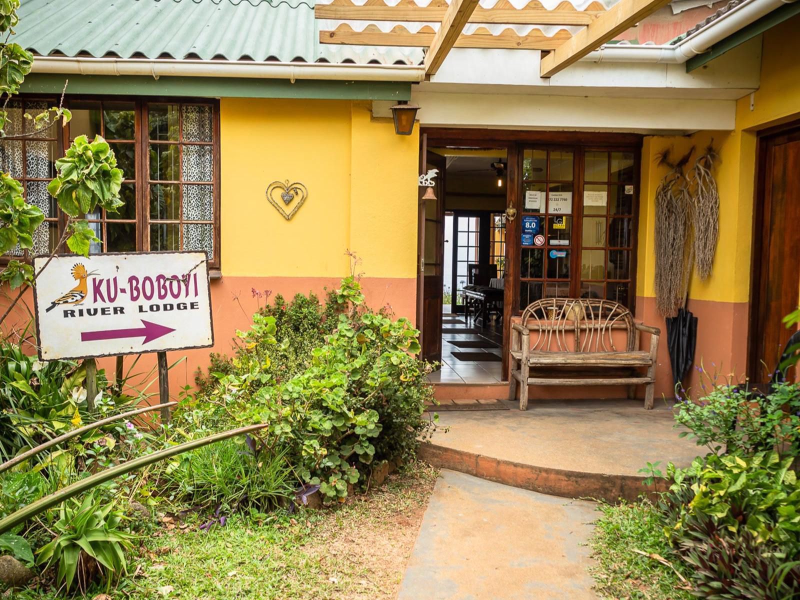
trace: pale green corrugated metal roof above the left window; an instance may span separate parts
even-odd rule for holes
[[[422,50],[319,43],[314,0],[22,0],[36,54],[418,63]]]

